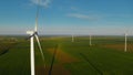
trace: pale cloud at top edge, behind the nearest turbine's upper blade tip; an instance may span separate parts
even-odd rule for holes
[[[42,6],[44,8],[48,8],[49,4],[51,3],[51,0],[40,0],[40,2],[38,0],[30,0],[30,1],[33,4],[39,4],[39,6]]]

